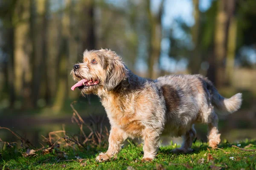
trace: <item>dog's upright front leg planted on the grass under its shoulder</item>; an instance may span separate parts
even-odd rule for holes
[[[157,131],[154,129],[145,129],[143,134],[144,156],[141,161],[152,161],[156,156],[159,147],[159,133],[157,133]]]

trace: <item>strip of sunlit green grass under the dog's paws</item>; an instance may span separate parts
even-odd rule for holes
[[[246,149],[256,149],[256,140],[244,140],[239,142],[241,148],[248,144],[250,147]],[[55,148],[51,153],[43,154],[41,151],[36,152],[35,156],[24,157],[24,149],[17,149],[17,147],[6,147],[0,150],[0,170],[7,169],[29,169],[29,170],[43,170],[43,169],[157,169],[161,168],[170,170],[179,169],[256,169],[256,151],[239,150],[232,145],[237,143],[220,144],[216,150],[207,149],[206,143],[195,142],[192,148],[195,150],[190,154],[172,154],[170,151],[178,147],[176,144],[160,147],[159,152],[151,162],[141,162],[143,157],[142,144],[134,144],[129,142],[121,152],[118,154],[118,159],[103,163],[95,161],[95,157],[99,151],[106,151],[106,148],[90,148],[87,150],[75,150],[73,148]],[[64,154],[65,153],[65,154]],[[213,160],[207,162],[208,155]],[[233,158],[233,159],[231,159]],[[204,163],[199,161],[204,159]],[[132,168],[131,168],[132,167]]]

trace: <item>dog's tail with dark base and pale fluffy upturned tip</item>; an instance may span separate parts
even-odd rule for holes
[[[209,89],[212,95],[212,104],[215,106],[214,110],[216,113],[221,115],[231,114],[237,111],[242,104],[242,94],[238,93],[229,99],[224,98],[218,93],[218,90],[214,87],[212,82],[205,78],[207,83],[207,89]]]

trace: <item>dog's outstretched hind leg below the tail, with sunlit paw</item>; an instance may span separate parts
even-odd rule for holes
[[[214,149],[221,142],[221,134],[218,133],[218,116],[214,111],[212,111],[209,117],[208,128],[209,146]]]

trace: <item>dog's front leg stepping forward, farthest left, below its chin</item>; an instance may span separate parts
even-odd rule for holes
[[[100,153],[99,156],[96,157],[96,161],[102,162],[111,159],[113,156],[116,157],[117,153],[119,153],[122,142],[127,138],[126,133],[119,129],[118,127],[111,127],[109,138],[108,138],[108,150],[106,153]]]

